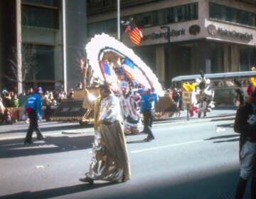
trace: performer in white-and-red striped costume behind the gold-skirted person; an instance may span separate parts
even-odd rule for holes
[[[124,133],[139,134],[140,117],[138,104],[141,96],[134,92],[134,90],[130,90],[131,87],[128,82],[121,82],[121,96],[119,100],[124,119]]]

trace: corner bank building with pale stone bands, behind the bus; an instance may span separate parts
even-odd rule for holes
[[[115,6],[116,1],[88,4],[88,37],[117,36]],[[121,40],[165,87],[177,75],[245,71],[256,65],[255,1],[120,1],[120,8],[121,20],[134,21],[144,35],[136,46],[121,26]]]

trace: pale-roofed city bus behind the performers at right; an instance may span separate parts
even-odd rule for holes
[[[245,98],[247,97],[246,87],[250,77],[256,78],[256,71],[242,71],[242,72],[223,72],[205,74],[206,79],[210,79],[210,90],[214,91],[214,102],[216,107],[233,106],[235,98],[235,89],[238,85],[235,84],[235,78],[240,81]],[[201,75],[183,75],[174,77],[171,80],[172,87],[182,89],[183,83],[193,83],[196,79],[200,79]]]

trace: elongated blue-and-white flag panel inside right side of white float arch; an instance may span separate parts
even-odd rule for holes
[[[151,88],[151,84],[146,75],[132,63],[132,60],[125,58],[122,69],[132,80],[136,80],[142,87]]]

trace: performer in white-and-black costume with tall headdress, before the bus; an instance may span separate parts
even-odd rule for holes
[[[198,117],[206,117],[206,112],[213,109],[213,91],[209,90],[210,80],[204,77],[203,71],[201,71],[201,79],[197,80],[198,92],[196,93],[196,105],[198,106]]]

